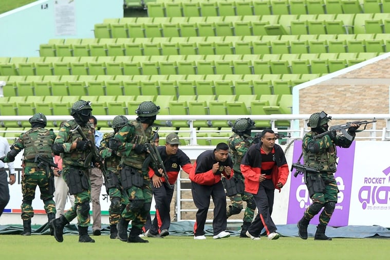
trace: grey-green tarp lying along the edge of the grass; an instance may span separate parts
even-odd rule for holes
[[[298,236],[298,228],[295,224],[288,225],[276,225],[277,232],[282,236]],[[193,221],[179,221],[172,222],[169,229],[170,235],[174,236],[193,236],[194,222]],[[228,231],[232,236],[239,235],[240,227],[237,225],[228,226]],[[309,225],[308,235],[313,237],[315,233],[315,225]],[[21,234],[23,231],[22,225],[2,226],[0,225],[0,234]],[[92,227],[88,228],[88,231],[92,232]],[[264,230],[263,230],[264,231]],[[213,235],[213,228],[211,225],[205,226],[205,232],[207,236]],[[68,225],[64,230],[65,234],[78,234],[76,225]],[[49,234],[48,225],[34,225],[32,226],[32,234]],[[109,226],[102,225],[102,234],[109,234]],[[387,228],[381,226],[346,226],[346,227],[327,227],[326,235],[329,237],[340,238],[390,238],[390,231]]]

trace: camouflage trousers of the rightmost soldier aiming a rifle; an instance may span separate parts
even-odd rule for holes
[[[334,207],[326,207],[326,204],[329,202],[337,202],[337,194],[339,193],[339,188],[337,187],[337,182],[335,176],[331,173],[320,173],[319,176],[325,183],[325,188],[323,192],[314,192],[310,197],[312,202],[311,205],[305,210],[304,216],[306,219],[312,219],[317,215],[321,209],[322,210],[319,220],[320,224],[328,225],[329,220],[333,214]]]

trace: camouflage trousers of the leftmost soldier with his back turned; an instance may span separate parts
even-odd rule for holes
[[[34,216],[34,210],[32,208],[32,200],[35,198],[36,186],[39,187],[41,192],[41,199],[44,203],[44,209],[46,214],[56,213],[55,203],[53,200],[53,192],[49,192],[49,178],[46,176],[46,172],[35,167],[26,166],[23,171],[22,184],[22,219],[29,220]]]

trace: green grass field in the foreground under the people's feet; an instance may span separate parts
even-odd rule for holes
[[[388,239],[332,241],[281,237],[261,240],[230,237],[194,240],[192,236],[147,238],[148,244],[128,244],[109,236],[94,236],[95,244],[78,243],[77,235],[64,235],[58,243],[48,235],[0,235],[2,259],[387,259]]]

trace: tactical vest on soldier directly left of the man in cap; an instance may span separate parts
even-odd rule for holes
[[[132,122],[128,122],[127,124],[132,125],[135,128],[135,135],[133,137],[133,140],[130,141],[130,143],[145,144],[146,142],[152,141],[151,126],[147,127],[146,130],[144,131],[139,121],[132,121]],[[146,153],[136,154],[134,150],[130,152],[129,156],[122,157],[124,164],[140,170],[142,169],[142,163],[145,160],[145,158],[146,158]]]

